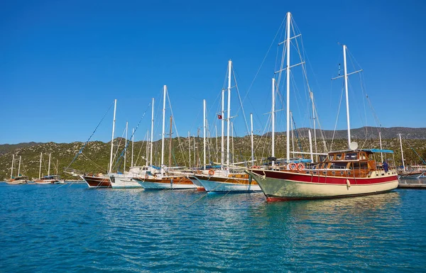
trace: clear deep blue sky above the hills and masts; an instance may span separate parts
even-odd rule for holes
[[[85,141],[114,99],[119,136],[126,121],[136,126],[152,97],[160,113],[164,84],[179,134],[194,134],[202,126],[202,99],[215,122],[229,59],[246,96],[288,11],[302,33],[322,128],[336,122],[342,82],[330,78],[342,63],[338,43],[364,69],[383,127],[426,126],[425,1],[1,1],[0,143]],[[263,130],[270,111],[277,43],[244,100],[255,130]],[[352,127],[376,126],[373,118],[360,118],[371,109],[365,104],[364,111],[357,77],[351,77]],[[309,126],[304,106],[291,105],[297,126]],[[338,129],[346,128],[344,111]],[[235,119],[240,135],[246,132],[241,117]],[[150,118],[148,109],[136,140]],[[94,140],[109,141],[111,119],[112,111]],[[278,130],[283,121],[278,117]]]

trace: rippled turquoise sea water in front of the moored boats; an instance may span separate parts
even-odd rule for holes
[[[263,194],[0,184],[0,272],[425,272],[426,190]]]

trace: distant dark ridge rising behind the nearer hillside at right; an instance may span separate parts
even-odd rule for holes
[[[300,137],[307,138],[307,131],[311,130],[313,135],[313,130],[310,128],[299,128],[297,129],[297,133],[300,134]],[[320,130],[317,131],[317,138],[320,138]],[[401,134],[405,139],[417,139],[417,140],[425,140],[426,139],[426,128],[408,128],[408,127],[391,127],[391,128],[378,128],[366,126],[362,128],[351,129],[351,138],[356,139],[378,139],[378,132],[381,132],[382,139],[391,139],[398,138],[398,134]],[[285,135],[286,132],[278,132],[277,135]],[[334,139],[346,139],[347,138],[347,130],[322,130],[324,138],[332,139],[334,135]],[[266,135],[270,135],[271,132]]]

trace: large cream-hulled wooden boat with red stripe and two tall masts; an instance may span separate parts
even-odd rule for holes
[[[287,158],[290,158],[290,18],[287,13]],[[295,36],[296,37],[296,36]],[[293,37],[293,38],[295,38]],[[377,194],[391,191],[398,187],[395,169],[388,169],[387,164],[378,167],[373,154],[376,152],[393,153],[391,150],[358,149],[351,143],[349,124],[349,97],[346,71],[346,45],[344,52],[344,87],[346,92],[346,121],[348,130],[348,150],[329,152],[327,159],[317,163],[313,169],[295,169],[288,162],[286,170],[247,169],[246,172],[258,182],[268,201],[289,201],[297,199],[334,198]],[[294,65],[293,65],[294,67]],[[361,70],[360,70],[361,71]],[[359,72],[359,71],[358,71]],[[352,72],[351,74],[356,73]],[[336,77],[334,79],[337,79]]]

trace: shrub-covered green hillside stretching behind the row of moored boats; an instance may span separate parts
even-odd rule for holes
[[[426,129],[425,128],[398,128],[390,130],[387,128],[386,134],[382,133],[383,149],[395,151],[396,165],[401,164],[400,143],[398,133],[403,134],[403,149],[406,164],[422,164],[422,158],[426,158]],[[419,130],[421,129],[421,130]],[[383,129],[382,129],[383,132]],[[305,135],[305,129],[297,130],[300,138],[295,139],[295,150],[307,152],[309,150],[309,141]],[[325,131],[325,143],[329,150],[346,149],[346,135],[342,134],[340,138],[334,136],[332,141],[329,138],[330,133]],[[317,136],[320,133],[317,132]],[[391,137],[393,136],[393,137]],[[357,138],[355,138],[357,137]],[[319,138],[319,137],[318,137]],[[169,146],[165,140],[164,162],[168,165]],[[191,137],[190,147],[188,148],[188,138],[173,138],[171,165],[173,166],[201,166],[203,160],[202,138]],[[285,157],[285,133],[279,133],[275,136],[275,157]],[[364,138],[359,138],[359,134],[354,134],[353,141],[359,143],[361,148],[379,148],[378,138],[372,138],[364,133]],[[42,176],[48,174],[48,158],[51,155],[50,174],[60,174],[65,179],[79,179],[72,177],[64,172],[65,167],[80,170],[83,173],[106,173],[109,166],[109,155],[111,150],[111,142],[103,143],[100,141],[92,141],[87,143],[84,150],[73,161],[84,143],[20,143],[17,145],[0,145],[0,181],[11,176],[12,155],[15,155],[13,165],[13,175],[18,172],[18,160],[21,156],[21,174],[28,175],[30,178],[38,177],[40,167],[40,152],[43,152],[43,160],[41,173]],[[133,146],[133,165],[146,164],[146,141],[138,141]],[[123,138],[114,140],[114,160],[113,169],[122,172],[124,167],[124,145]],[[207,139],[207,162],[220,161],[220,138]],[[331,146],[331,149],[330,149]],[[226,144],[225,144],[226,148]],[[270,134],[255,135],[254,148],[256,165],[261,165],[261,159],[271,156],[271,137]],[[234,155],[234,162],[250,160],[251,157],[251,140],[250,136],[234,138],[231,141],[231,153]],[[324,152],[324,144],[322,140],[317,140],[318,152]],[[189,163],[189,152],[191,152],[191,162]],[[420,155],[420,157],[416,154]],[[153,143],[153,162],[159,166],[161,160],[161,140]],[[119,159],[119,160],[118,160]],[[392,157],[388,157],[392,161]],[[126,169],[131,165],[131,145],[126,152]]]

